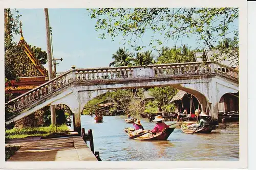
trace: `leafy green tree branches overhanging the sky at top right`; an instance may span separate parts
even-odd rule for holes
[[[99,8],[88,9],[92,19],[97,20],[95,29],[101,31],[100,38],[107,35],[112,39],[118,35],[124,38],[124,44],[131,44],[136,51],[143,46],[137,44],[146,31],[153,32],[147,45],[161,45],[161,38],[178,40],[182,37],[197,36],[209,48],[219,38],[238,31],[233,22],[238,19],[238,8]],[[238,36],[235,34],[238,38]]]

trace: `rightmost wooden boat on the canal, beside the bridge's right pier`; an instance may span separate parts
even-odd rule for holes
[[[188,134],[192,134],[195,129],[196,129],[196,126],[191,126],[193,124],[196,124],[196,122],[184,122],[181,124],[181,131],[184,132],[184,133],[188,133]],[[212,130],[211,126],[208,126],[206,128],[201,128],[201,129],[197,129],[194,133],[210,133]]]

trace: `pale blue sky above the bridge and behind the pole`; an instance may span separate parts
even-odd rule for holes
[[[17,9],[22,17],[23,36],[28,44],[41,47],[46,51],[46,25],[44,9]],[[65,72],[75,65],[76,68],[103,67],[113,61],[118,47],[124,47],[122,37],[114,42],[111,38],[98,38],[95,31],[96,20],[92,20],[86,9],[49,9],[50,26],[52,27],[54,58],[63,58],[57,66],[57,72]],[[148,44],[152,33],[143,37],[144,44]],[[20,38],[16,36],[16,41]],[[192,48],[204,47],[196,43],[193,37],[182,39],[179,44],[188,44]],[[172,40],[164,42],[162,46],[172,47]],[[160,47],[160,46],[159,46]],[[126,46],[132,49],[130,46]],[[146,48],[145,50],[150,50]],[[45,65],[48,68],[47,64]]]

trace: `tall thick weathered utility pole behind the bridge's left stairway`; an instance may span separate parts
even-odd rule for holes
[[[47,8],[45,8],[45,15],[46,15],[47,59],[48,59],[48,66],[49,66],[48,76],[50,81],[53,79],[53,75],[52,75],[52,53],[51,53],[49,14],[48,14]],[[54,105],[51,105],[51,121],[52,121],[52,125],[56,125],[56,113],[55,113]]]

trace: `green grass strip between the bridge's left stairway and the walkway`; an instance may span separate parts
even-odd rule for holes
[[[13,128],[5,131],[6,139],[20,139],[32,136],[49,136],[52,134],[67,134],[69,129],[66,125],[37,127],[37,128]]]

